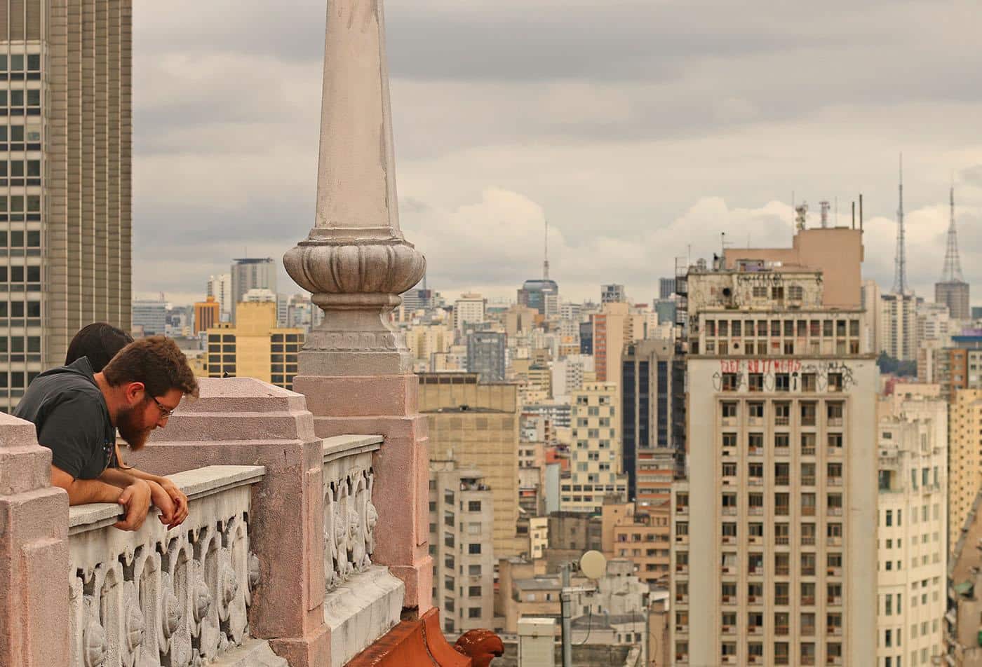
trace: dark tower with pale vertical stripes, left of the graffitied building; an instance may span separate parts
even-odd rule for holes
[[[676,354],[674,340],[627,345],[621,425],[628,499],[641,506],[667,501],[672,471],[682,472],[685,455],[685,362]]]

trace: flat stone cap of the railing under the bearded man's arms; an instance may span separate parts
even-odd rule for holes
[[[185,492],[189,500],[194,500],[229,488],[254,484],[265,474],[263,466],[207,466],[167,477]],[[76,505],[69,508],[69,530],[75,534],[110,526],[122,514],[122,506],[110,502]]]

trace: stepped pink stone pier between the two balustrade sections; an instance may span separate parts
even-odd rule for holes
[[[127,462],[158,475],[209,465],[261,465],[252,487],[249,539],[260,564],[249,633],[291,667],[327,667],[324,624],[323,443],[303,396],[249,378],[201,379]],[[55,663],[51,663],[55,664]]]

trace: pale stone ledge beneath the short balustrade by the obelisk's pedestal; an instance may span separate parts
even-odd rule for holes
[[[331,667],[346,665],[399,622],[406,586],[388,568],[373,565],[324,597],[331,630]]]

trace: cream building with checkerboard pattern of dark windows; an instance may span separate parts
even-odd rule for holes
[[[562,480],[563,511],[600,514],[604,498],[627,499],[621,458],[616,383],[588,383],[571,396],[570,475]]]

